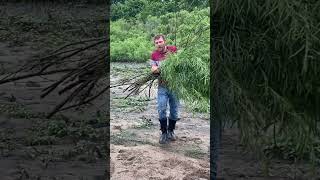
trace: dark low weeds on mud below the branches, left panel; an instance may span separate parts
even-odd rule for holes
[[[103,125],[106,123],[106,117],[101,115],[89,120],[70,119],[63,115],[44,120],[45,113],[34,113],[19,104],[1,104],[0,113],[10,118],[32,120],[33,124],[28,136],[22,139],[23,144],[28,146],[59,144],[60,138],[98,141],[104,139],[107,133],[102,132],[101,128],[94,128],[95,126],[105,127]],[[5,137],[8,136],[1,135],[1,139]]]

